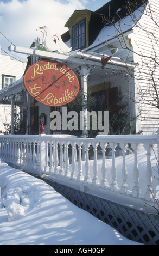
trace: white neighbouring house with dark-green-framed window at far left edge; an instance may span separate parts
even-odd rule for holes
[[[0,54],[0,88],[5,90],[9,84],[13,84],[16,80],[20,79],[26,69],[26,62],[18,60],[9,54]],[[0,105],[0,127],[3,132],[7,132],[11,119],[11,105],[8,105],[8,100],[5,98]],[[4,125],[4,123],[6,125]]]

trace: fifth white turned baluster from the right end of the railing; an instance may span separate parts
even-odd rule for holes
[[[103,179],[101,180],[102,188],[105,188],[108,185],[108,181],[106,179],[106,177],[107,177],[107,167],[106,167],[106,159],[105,159],[106,145],[107,145],[107,143],[105,143],[105,142],[100,143],[100,146],[102,148],[102,153],[103,153],[103,156],[102,156],[103,160],[102,160],[102,167],[101,167],[101,173],[102,173],[102,177],[103,177]]]

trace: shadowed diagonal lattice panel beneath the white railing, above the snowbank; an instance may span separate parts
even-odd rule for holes
[[[44,179],[45,180],[45,179]],[[145,245],[159,245],[158,217],[91,196],[86,192],[45,180],[73,204],[117,229],[120,234]]]

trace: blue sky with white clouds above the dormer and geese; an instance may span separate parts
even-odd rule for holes
[[[16,46],[29,48],[42,33],[36,29],[48,26],[51,34],[63,34],[65,23],[74,10],[95,11],[109,0],[0,0],[1,53],[8,52],[11,41]],[[7,40],[8,39],[8,40]]]

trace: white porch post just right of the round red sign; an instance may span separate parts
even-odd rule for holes
[[[87,101],[87,77],[90,74],[90,71],[92,70],[92,66],[88,67],[87,65],[84,65],[80,69],[80,76],[81,76],[81,89],[83,94],[85,95],[85,102]],[[87,129],[87,107],[85,106],[85,103],[82,103],[82,120],[80,129],[82,129],[82,136],[86,137],[88,134]]]

